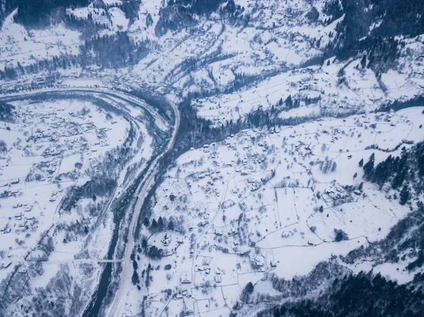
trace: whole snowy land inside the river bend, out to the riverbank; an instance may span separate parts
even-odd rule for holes
[[[8,100],[15,109],[13,122],[0,121],[1,140],[6,143],[0,155],[0,280],[16,268],[33,273],[34,265],[42,263],[41,271],[30,277],[28,290],[35,293],[35,287],[45,288],[66,275],[73,280],[69,287],[85,289],[65,301],[67,309],[81,297],[88,301],[114,228],[113,213],[106,213],[109,203],[153,155],[157,145],[151,133],[157,132],[152,128],[168,129],[159,117],[148,123],[143,108],[120,97],[120,92],[81,90]],[[113,160],[120,157],[120,162],[110,161],[109,155]],[[89,187],[98,177],[113,176],[117,189],[107,196],[102,189],[72,196],[74,189]],[[25,301],[17,303],[26,306]]]

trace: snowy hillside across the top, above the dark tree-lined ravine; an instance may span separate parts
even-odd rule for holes
[[[404,40],[399,62],[378,74],[378,78],[370,68],[360,66],[360,58],[341,62],[331,57],[322,66],[302,66],[322,55],[331,40],[329,34],[334,37],[336,24],[343,19],[342,16],[324,26],[328,16],[322,12],[322,1],[313,2],[319,11],[319,19],[313,21],[307,17],[312,10],[310,1],[237,0],[236,5],[245,9],[243,16],[249,16],[246,23],[234,24],[212,14],[200,18],[189,30],[168,31],[161,36],[155,28],[162,1],[143,1],[131,23],[120,8],[121,2],[107,1],[107,8],[90,4],[87,8],[68,9],[67,13],[83,20],[90,15],[95,23],[105,25],[98,35],[126,31],[134,42],[150,40],[154,44],[147,56],[134,66],[114,71],[88,66],[57,68],[56,72],[66,78],[97,76],[105,85],[122,81],[148,85],[176,102],[189,93],[218,90],[222,93],[194,102],[199,116],[216,124],[272,106],[281,111],[282,117],[313,116],[323,110],[370,111],[382,103],[423,93],[422,36]],[[25,66],[52,56],[78,54],[78,46],[84,42],[82,34],[66,30],[64,25],[27,31],[13,23],[13,13],[6,18],[0,39],[4,42],[4,52],[0,51],[3,66],[16,66],[17,61]],[[42,49],[38,48],[40,45]],[[34,47],[37,54],[28,54]],[[341,76],[343,72],[345,75]],[[343,82],[342,77],[346,78]],[[21,76],[14,82],[5,82],[4,88],[25,86],[31,80],[34,78]],[[245,87],[229,92],[237,80],[246,80]],[[302,100],[300,109],[288,110],[285,104],[279,104],[289,95],[293,100]],[[305,98],[315,100],[307,105]]]

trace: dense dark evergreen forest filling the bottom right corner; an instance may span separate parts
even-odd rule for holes
[[[334,280],[318,298],[286,301],[257,317],[420,317],[423,311],[422,287],[398,285],[370,271]]]

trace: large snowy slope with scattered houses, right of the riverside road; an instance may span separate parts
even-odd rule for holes
[[[409,209],[391,191],[361,186],[358,162],[375,153],[377,164],[400,155],[401,147],[391,150],[396,145],[422,141],[423,109],[247,130],[179,157],[155,193],[152,216],[177,229],[152,236],[143,229],[148,247],[166,254],[139,261],[141,285],[151,265],[146,308],[152,316],[164,309],[178,316],[187,307],[201,316],[225,315],[247,282],[261,292],[269,273],[288,280],[307,275],[320,261],[383,239]],[[335,229],[346,239],[335,241]],[[375,270],[399,282],[413,278],[398,267]],[[139,311],[139,296],[135,287],[129,292],[126,313]]]

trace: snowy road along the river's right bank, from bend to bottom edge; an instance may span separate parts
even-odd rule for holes
[[[172,137],[170,139],[170,142],[167,145],[167,148],[165,151],[163,151],[158,157],[155,158],[155,160],[152,162],[151,167],[148,169],[148,172],[146,173],[146,177],[144,181],[141,183],[141,191],[139,194],[139,198],[137,199],[136,206],[134,207],[134,214],[131,218],[131,223],[129,225],[129,236],[128,236],[128,243],[125,246],[125,255],[122,259],[123,268],[121,273],[121,279],[119,280],[119,286],[117,289],[117,293],[115,294],[114,301],[112,303],[112,306],[110,308],[110,312],[107,316],[110,317],[117,317],[117,313],[119,313],[119,307],[122,300],[122,295],[124,294],[125,289],[127,289],[127,285],[131,285],[131,275],[132,275],[132,263],[131,263],[131,252],[134,249],[134,232],[137,225],[137,220],[139,219],[139,215],[141,213],[141,206],[143,205],[144,200],[146,199],[146,196],[148,195],[148,191],[153,185],[155,181],[155,176],[158,174],[158,162],[160,159],[167,153],[172,146],[175,143],[175,138],[177,136],[177,131],[179,128],[179,111],[175,104],[172,102],[169,102],[172,106],[172,109],[175,113],[175,124],[174,124],[174,131],[172,131]]]

